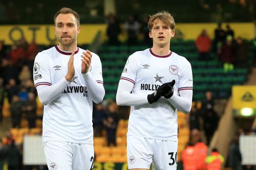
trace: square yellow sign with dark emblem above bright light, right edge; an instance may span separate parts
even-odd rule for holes
[[[256,86],[232,86],[233,109],[256,109]]]

